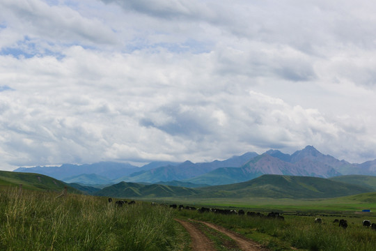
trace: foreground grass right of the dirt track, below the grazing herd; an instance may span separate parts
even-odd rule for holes
[[[278,220],[186,210],[175,213],[185,218],[214,222],[251,238],[257,236],[257,241],[270,250],[291,250],[290,247],[294,247],[311,251],[369,251],[376,247],[376,231],[363,227],[362,218],[345,218],[349,226],[343,229],[338,223],[332,223],[334,218],[331,217],[323,218],[324,222],[318,224],[313,216],[285,215],[285,220]]]

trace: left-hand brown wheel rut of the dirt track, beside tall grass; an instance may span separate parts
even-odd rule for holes
[[[216,251],[212,241],[203,234],[203,232],[195,227],[190,222],[184,220],[175,219],[179,222],[185,229],[187,229],[192,240],[192,250],[194,251]]]

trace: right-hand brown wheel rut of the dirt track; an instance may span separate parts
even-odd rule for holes
[[[267,251],[267,249],[263,248],[260,244],[256,243],[255,241],[251,241],[248,238],[245,238],[244,236],[241,236],[240,234],[230,231],[224,227],[217,226],[209,222],[202,222],[202,221],[197,221],[197,222],[205,224],[207,227],[211,227],[212,229],[215,229],[217,231],[220,231],[223,234],[226,234],[226,236],[236,241],[237,245],[239,245],[242,251]]]

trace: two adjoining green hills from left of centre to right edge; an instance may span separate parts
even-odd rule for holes
[[[181,188],[169,185],[143,185],[121,182],[103,188],[95,195],[123,198],[190,197],[194,198],[290,198],[318,199],[373,192],[371,188],[327,178],[265,174],[251,181],[205,188]]]

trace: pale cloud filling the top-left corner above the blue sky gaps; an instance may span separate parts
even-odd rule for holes
[[[23,33],[23,43],[38,47],[40,40],[47,43],[79,43],[83,45],[115,44],[111,28],[96,19],[88,19],[68,6],[50,6],[45,1],[1,1],[0,12],[6,18],[5,28],[10,42],[12,36]],[[18,31],[15,35],[14,31]],[[30,40],[33,42],[30,45]],[[19,45],[18,45],[19,46]]]

